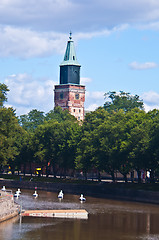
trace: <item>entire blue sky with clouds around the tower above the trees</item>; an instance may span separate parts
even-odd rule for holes
[[[17,115],[54,107],[69,32],[86,85],[85,109],[104,93],[137,94],[159,108],[158,0],[0,0],[0,81]]]

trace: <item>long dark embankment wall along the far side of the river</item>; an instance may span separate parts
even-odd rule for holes
[[[0,180],[0,187],[35,189],[64,193],[81,194],[85,196],[108,198],[113,200],[134,201],[151,204],[159,204],[159,191],[146,191],[141,189],[128,188],[126,184],[100,183],[100,184],[74,184],[74,183],[52,183],[38,181],[13,181]]]

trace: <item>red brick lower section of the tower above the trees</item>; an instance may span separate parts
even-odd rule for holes
[[[68,109],[78,120],[84,120],[85,86],[66,84],[56,85],[54,93],[55,107]]]

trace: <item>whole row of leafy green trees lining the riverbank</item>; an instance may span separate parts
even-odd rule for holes
[[[115,180],[120,172],[125,181],[133,170],[159,173],[159,111],[146,113],[139,96],[108,92],[103,107],[87,113],[83,123],[60,107],[44,115],[36,109],[18,119],[5,108],[6,85],[0,85],[0,168],[12,171],[21,165],[40,163],[53,169],[54,176],[75,170],[104,171]]]

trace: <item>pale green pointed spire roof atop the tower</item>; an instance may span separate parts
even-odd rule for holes
[[[75,52],[75,47],[74,47],[74,42],[72,40],[72,33],[70,32],[70,37],[67,42],[67,47],[66,47],[66,52],[64,56],[63,62],[60,64],[60,66],[65,66],[65,65],[76,65],[80,66],[80,64],[77,61],[76,57],[76,52]]]

